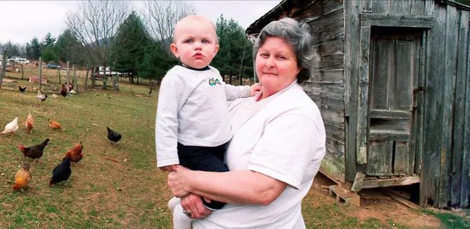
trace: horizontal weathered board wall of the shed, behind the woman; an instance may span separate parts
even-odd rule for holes
[[[339,1],[312,1],[296,19],[311,26],[314,48],[320,57],[303,88],[320,108],[326,128],[326,155],[321,170],[344,182],[344,7]]]

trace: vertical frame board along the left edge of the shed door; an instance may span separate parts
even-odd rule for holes
[[[367,163],[367,101],[369,88],[370,26],[361,26],[359,94],[357,102],[357,163]]]

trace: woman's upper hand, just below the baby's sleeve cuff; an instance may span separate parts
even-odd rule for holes
[[[191,187],[189,187],[190,173],[191,170],[183,166],[178,166],[176,172],[173,170],[173,172],[170,172],[168,175],[167,184],[175,197],[184,197],[191,192]]]

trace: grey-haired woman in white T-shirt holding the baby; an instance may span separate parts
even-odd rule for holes
[[[299,86],[314,63],[308,26],[289,18],[273,21],[261,30],[254,53],[263,88],[229,106],[230,171],[180,166],[168,177],[187,215],[200,219],[193,228],[306,227],[301,201],[319,170],[326,139],[319,109]],[[211,213],[200,197],[228,204]]]

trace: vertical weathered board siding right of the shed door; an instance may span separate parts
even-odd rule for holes
[[[426,2],[428,3],[428,2]],[[429,2],[422,206],[469,206],[469,12]]]

